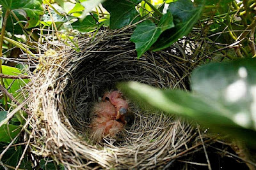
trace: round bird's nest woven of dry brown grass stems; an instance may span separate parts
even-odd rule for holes
[[[188,74],[196,59],[182,50],[184,41],[136,59],[131,32],[99,31],[80,36],[77,46],[49,50],[40,57],[28,103],[33,110],[36,155],[51,156],[68,169],[163,169],[191,152],[196,132],[187,122],[163,113],[140,110],[131,103],[134,117],[116,139],[94,143],[90,138],[90,111],[116,82],[140,81],[161,88],[188,89]]]

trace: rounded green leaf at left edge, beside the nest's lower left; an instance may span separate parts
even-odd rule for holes
[[[11,142],[19,134],[21,127],[18,125],[2,125],[0,127],[0,142]]]

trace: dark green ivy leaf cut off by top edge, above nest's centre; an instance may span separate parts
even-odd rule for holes
[[[139,13],[136,11],[135,6],[141,0],[108,0],[102,6],[110,13],[110,29],[120,29],[125,25],[137,22]]]

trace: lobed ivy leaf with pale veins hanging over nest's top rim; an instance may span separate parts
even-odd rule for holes
[[[138,59],[157,41],[163,31],[172,27],[174,24],[170,12],[161,17],[157,26],[150,20],[138,24],[130,39],[135,43]]]

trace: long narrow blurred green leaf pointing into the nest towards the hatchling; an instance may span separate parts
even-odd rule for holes
[[[256,147],[256,131],[237,124],[232,110],[219,101],[189,94],[180,90],[161,90],[138,82],[122,83],[118,86],[129,99],[144,107],[164,111],[168,115],[179,115],[196,120],[212,131],[226,133]]]

